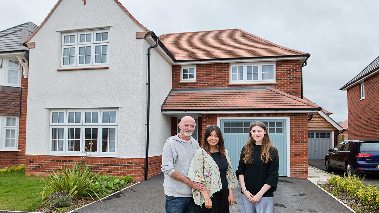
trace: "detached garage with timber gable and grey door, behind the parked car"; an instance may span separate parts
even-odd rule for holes
[[[309,102],[309,99],[303,97]],[[312,102],[313,103],[313,102]],[[308,118],[308,158],[324,159],[328,149],[337,143],[337,136],[342,127],[329,115],[333,114],[325,109],[312,114]]]

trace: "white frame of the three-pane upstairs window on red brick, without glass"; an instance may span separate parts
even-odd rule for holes
[[[274,79],[263,80],[262,76],[262,66],[273,65]],[[243,80],[232,80],[232,68],[233,67],[243,67]],[[258,66],[258,80],[247,80],[247,67],[248,66]],[[237,68],[238,69],[238,68]],[[237,63],[229,64],[229,83],[230,84],[247,84],[247,83],[276,83],[276,63],[275,62],[265,62],[265,63]]]

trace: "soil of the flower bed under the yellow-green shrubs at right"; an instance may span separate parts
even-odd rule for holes
[[[330,184],[318,184],[324,190],[328,191],[330,194],[334,192],[334,186]],[[357,213],[379,213],[379,210],[371,208],[364,204],[358,197],[351,197],[346,193],[345,190],[342,190],[341,193],[338,193],[337,199],[341,200],[348,207],[352,208]]]

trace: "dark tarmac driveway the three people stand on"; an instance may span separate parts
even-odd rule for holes
[[[164,213],[163,173],[75,213]],[[233,189],[231,213],[240,212],[241,188]],[[305,178],[279,177],[274,193],[275,213],[351,213],[351,211]]]

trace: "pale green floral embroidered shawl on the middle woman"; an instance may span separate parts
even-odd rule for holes
[[[225,150],[225,156],[228,162],[226,180],[228,188],[231,189],[238,186],[238,181],[232,169],[227,150]],[[191,164],[189,165],[187,176],[191,181],[204,184],[210,197],[212,197],[213,193],[220,191],[222,188],[220,170],[218,169],[215,160],[213,160],[202,147],[196,150]],[[192,189],[192,194],[196,205],[204,204],[204,197],[199,190]]]

